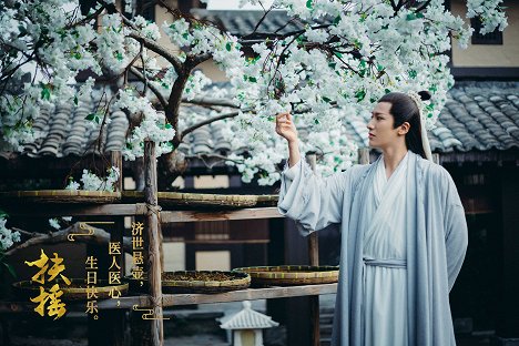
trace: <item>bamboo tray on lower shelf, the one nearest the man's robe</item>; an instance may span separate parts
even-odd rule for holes
[[[281,265],[235,268],[251,275],[254,286],[332,284],[338,281],[338,266]]]

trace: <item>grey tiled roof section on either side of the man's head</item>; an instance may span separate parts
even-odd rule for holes
[[[348,138],[367,146],[368,119],[354,116]],[[519,82],[458,82],[428,132],[434,152],[519,147]]]

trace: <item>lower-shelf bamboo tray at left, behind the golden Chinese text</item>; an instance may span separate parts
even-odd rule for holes
[[[54,285],[60,285],[60,291],[63,292],[63,295],[60,297],[61,301],[86,301],[86,281],[84,278],[71,278],[71,286],[81,286],[81,287],[71,287],[68,286],[61,278],[45,283],[41,285],[40,283],[33,281],[21,281],[13,283],[13,291],[20,297],[23,298],[34,298],[40,294],[40,286],[43,286],[47,292]],[[109,299],[110,291],[112,288],[119,289],[121,296],[124,296],[128,293],[128,283],[120,285],[109,285],[108,279],[99,279],[95,286],[95,299]]]

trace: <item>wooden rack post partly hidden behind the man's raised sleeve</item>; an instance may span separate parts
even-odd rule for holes
[[[315,172],[317,164],[317,155],[308,154],[306,155],[306,161],[311,165],[312,170]],[[319,265],[319,236],[317,232],[311,233],[308,236],[308,257],[311,265]],[[311,335],[312,335],[312,345],[319,346],[319,296],[311,296]]]

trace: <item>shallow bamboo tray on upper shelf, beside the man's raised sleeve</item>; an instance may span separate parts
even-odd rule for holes
[[[142,201],[142,191],[124,191],[124,200]],[[214,206],[214,207],[251,207],[273,206],[277,204],[278,195],[225,195],[208,193],[159,192],[159,204],[163,206]]]

